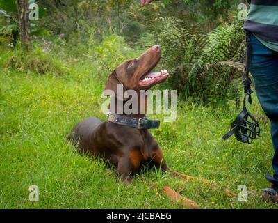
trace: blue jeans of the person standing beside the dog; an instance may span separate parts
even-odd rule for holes
[[[278,52],[265,47],[253,34],[251,34],[250,72],[254,78],[256,95],[261,107],[271,121],[274,175],[267,174],[266,178],[278,186]]]

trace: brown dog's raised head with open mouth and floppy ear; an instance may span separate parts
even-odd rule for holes
[[[161,59],[161,47],[154,45],[136,59],[125,61],[109,75],[106,90],[112,90],[117,95],[117,84],[122,84],[126,90],[147,90],[164,82],[167,70],[152,72]]]

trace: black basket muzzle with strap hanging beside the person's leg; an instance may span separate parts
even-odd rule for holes
[[[231,130],[224,134],[222,139],[229,139],[233,134],[238,141],[243,143],[251,144],[254,139],[258,139],[260,136],[261,128],[259,122],[247,111],[246,98],[248,102],[252,104],[251,89],[252,81],[249,77],[250,61],[251,61],[251,41],[250,32],[246,31],[246,43],[247,43],[247,54],[246,54],[246,66],[243,72],[243,87],[244,87],[244,98],[243,98],[243,110],[236,116],[236,119],[231,123]]]

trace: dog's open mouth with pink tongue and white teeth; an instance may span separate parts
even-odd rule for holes
[[[169,73],[166,69],[160,72],[149,72],[147,75],[143,75],[139,81],[140,86],[152,86],[154,84],[161,83],[169,77]]]

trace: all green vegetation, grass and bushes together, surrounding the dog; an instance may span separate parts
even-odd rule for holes
[[[0,34],[0,208],[181,208],[163,194],[165,185],[200,208],[277,208],[259,192],[269,185],[264,174],[272,172],[272,144],[254,96],[250,110],[261,122],[261,139],[252,145],[221,139],[240,110],[244,36],[234,3],[197,2],[165,0],[140,8],[138,1],[37,1],[45,14],[34,22],[30,52],[20,49],[13,32]],[[7,20],[0,15],[1,27]],[[80,155],[67,141],[83,118],[105,120],[106,78],[154,43],[163,51],[157,70],[171,75],[158,87],[177,89],[179,100],[177,121],[151,132],[171,169],[211,180],[221,190],[157,169],[123,183],[102,160]],[[39,202],[28,199],[34,184]],[[222,192],[238,194],[238,185],[252,191],[247,202]]]

